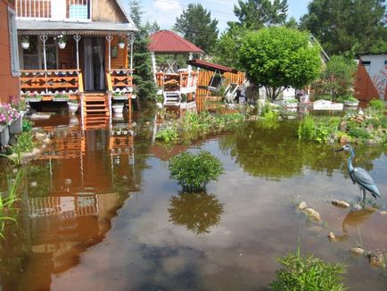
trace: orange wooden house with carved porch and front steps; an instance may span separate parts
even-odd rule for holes
[[[16,0],[21,95],[78,99],[82,117],[109,116],[132,97],[136,26],[120,0]]]

